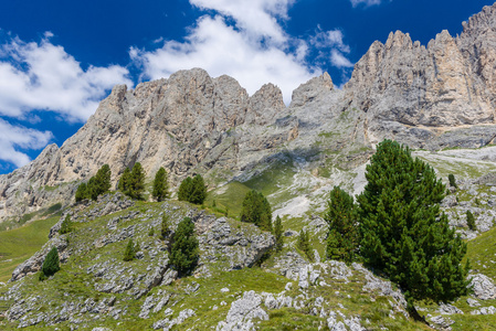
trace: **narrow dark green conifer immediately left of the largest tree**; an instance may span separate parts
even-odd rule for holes
[[[340,188],[335,186],[329,194],[324,220],[329,224],[327,257],[346,261],[353,260],[359,242],[353,197]]]

